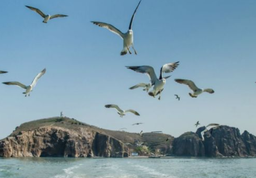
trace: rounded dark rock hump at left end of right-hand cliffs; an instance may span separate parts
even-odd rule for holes
[[[186,132],[174,139],[172,153],[177,156],[205,156],[205,148],[196,133]]]

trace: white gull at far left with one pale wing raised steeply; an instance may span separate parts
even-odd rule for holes
[[[36,77],[33,79],[32,83],[28,86],[18,82],[18,81],[9,81],[9,82],[3,82],[3,84],[7,84],[7,85],[16,85],[19,86],[21,88],[24,88],[26,90],[26,92],[23,92],[23,94],[26,94],[25,97],[28,95],[30,96],[30,92],[32,92],[33,88],[35,87],[37,81],[39,80],[39,78],[45,73],[46,69],[44,68],[40,73],[38,73],[36,75]]]

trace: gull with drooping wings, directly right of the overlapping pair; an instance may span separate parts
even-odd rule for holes
[[[200,95],[201,93],[203,92],[208,92],[210,94],[213,94],[214,93],[214,90],[211,89],[211,88],[207,88],[207,89],[201,89],[201,88],[198,88],[196,86],[196,84],[191,81],[191,80],[185,80],[185,79],[175,79],[176,82],[178,83],[183,83],[183,84],[186,84],[189,86],[189,88],[191,90],[193,90],[193,94],[189,93],[189,96],[192,97],[192,98],[197,98],[198,95]]]

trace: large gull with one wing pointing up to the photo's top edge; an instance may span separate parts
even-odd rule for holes
[[[141,2],[141,0],[140,0]],[[132,18],[131,18],[131,21],[130,21],[130,25],[129,25],[129,30],[126,32],[126,33],[122,33],[120,30],[118,30],[116,27],[114,27],[113,25],[111,24],[108,24],[108,23],[104,23],[104,22],[96,22],[96,21],[91,21],[93,24],[95,25],[98,25],[100,27],[103,27],[103,28],[107,28],[109,29],[110,31],[112,31],[113,33],[119,35],[123,40],[124,40],[124,45],[123,45],[123,50],[121,51],[121,55],[125,55],[127,54],[127,52],[129,51],[129,53],[131,54],[132,52],[130,51],[130,46],[132,46],[135,54],[137,54],[136,50],[134,49],[133,47],[133,31],[132,31],[132,21],[134,19],[134,15],[140,5],[140,2],[139,4],[137,5],[133,15],[132,15]]]

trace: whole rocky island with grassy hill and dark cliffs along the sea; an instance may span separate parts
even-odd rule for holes
[[[0,157],[129,157],[150,154],[189,157],[256,156],[256,137],[221,126],[205,135],[186,132],[174,138],[162,133],[111,131],[70,118],[48,118],[21,124],[0,140]]]

